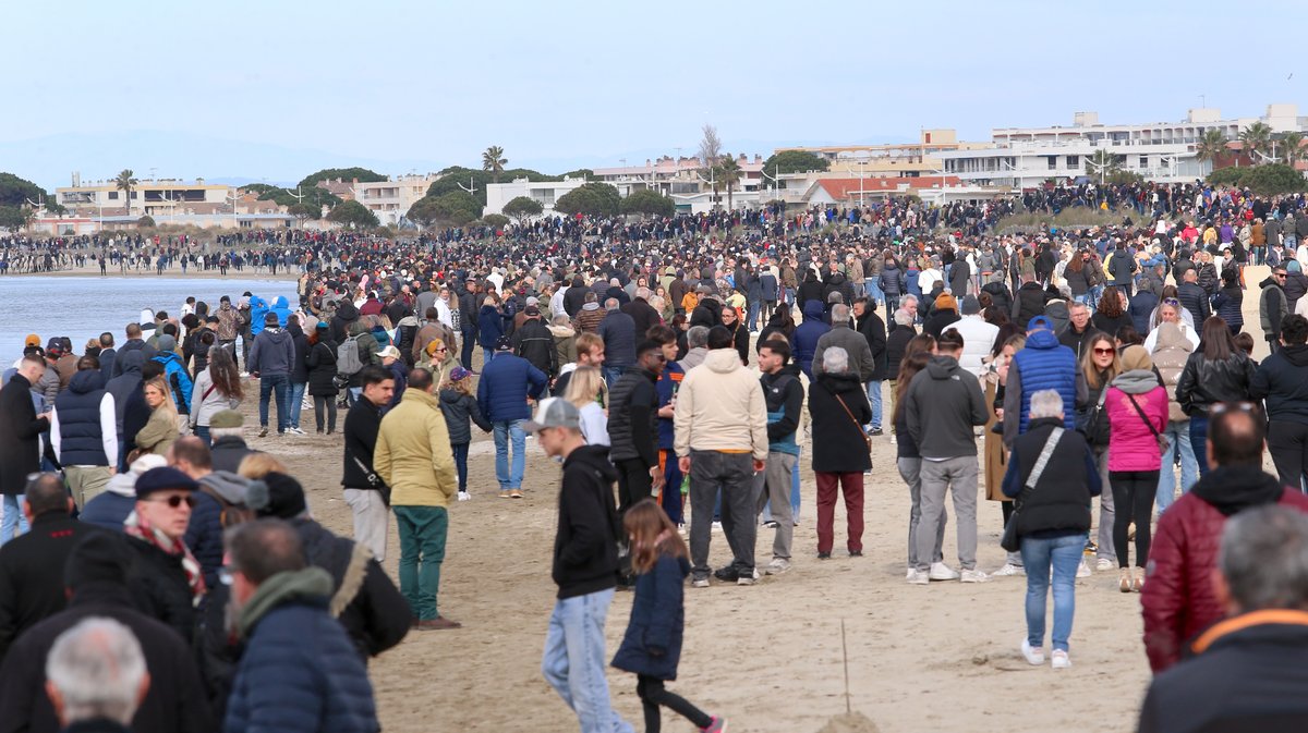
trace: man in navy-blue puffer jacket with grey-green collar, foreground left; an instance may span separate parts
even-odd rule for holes
[[[233,529],[226,549],[246,651],[222,729],[379,730],[364,660],[327,611],[331,575],[306,567],[300,534],[281,520],[260,519]]]

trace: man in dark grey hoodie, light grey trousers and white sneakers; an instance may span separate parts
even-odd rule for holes
[[[950,328],[937,342],[937,354],[904,395],[908,431],[922,456],[922,513],[917,525],[917,567],[908,581],[955,580],[959,574],[943,562],[930,563],[944,493],[952,489],[959,532],[959,564],[964,583],[984,583],[977,564],[977,443],[972,429],[985,425],[989,412],[981,384],[959,366],[963,336]]]

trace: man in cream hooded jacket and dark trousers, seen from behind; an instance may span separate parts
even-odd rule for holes
[[[674,412],[674,449],[691,477],[691,584],[709,585],[713,504],[722,490],[722,529],[734,557],[719,580],[753,585],[759,533],[753,474],[768,459],[768,408],[759,378],[744,368],[731,332],[709,329],[704,363],[681,380]]]

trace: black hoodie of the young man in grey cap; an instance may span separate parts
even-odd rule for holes
[[[560,600],[617,585],[615,481],[607,446],[581,446],[564,459],[551,570]]]

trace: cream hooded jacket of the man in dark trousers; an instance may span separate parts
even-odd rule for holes
[[[748,451],[768,457],[768,408],[763,387],[740,363],[735,349],[713,349],[704,363],[687,372],[678,391],[674,448],[691,451]]]

